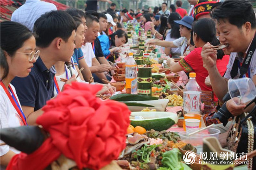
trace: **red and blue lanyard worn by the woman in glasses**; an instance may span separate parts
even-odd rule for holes
[[[18,112],[23,124],[27,125],[27,121],[26,121],[26,117],[23,113],[23,111],[21,110],[20,104],[13,92],[12,87],[9,85],[8,88],[10,91],[7,90],[6,86],[4,85],[4,83],[2,82],[2,80],[0,81],[0,85],[3,87],[4,91],[6,92],[8,98],[10,99],[13,107],[15,108],[15,110]]]

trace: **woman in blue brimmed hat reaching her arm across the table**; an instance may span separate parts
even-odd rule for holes
[[[194,19],[190,16],[185,16],[182,20],[175,20],[174,22],[179,24],[180,26],[180,34],[181,38],[176,39],[174,41],[162,41],[162,40],[149,40],[147,44],[150,45],[157,45],[163,47],[170,47],[170,48],[181,48],[181,56],[183,53],[189,54],[189,43],[188,40],[190,39],[190,33],[192,30],[192,23]]]

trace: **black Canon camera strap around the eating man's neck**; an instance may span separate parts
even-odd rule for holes
[[[251,42],[251,45],[249,46],[249,49],[248,49],[248,52],[246,53],[245,58],[243,60],[243,64],[240,67],[240,76],[239,76],[239,78],[242,78],[243,75],[249,70],[248,68],[249,68],[250,61],[251,61],[251,58],[252,58],[252,55],[253,55],[253,52],[255,51],[255,49],[256,49],[256,34],[254,34],[254,38]],[[233,67],[232,67],[231,72],[230,72],[231,78],[236,77],[239,66],[240,66],[239,60],[235,59]]]

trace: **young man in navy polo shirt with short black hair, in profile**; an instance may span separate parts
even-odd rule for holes
[[[43,113],[41,108],[54,97],[56,71],[53,65],[71,59],[75,48],[75,29],[73,18],[64,11],[45,13],[34,24],[36,48],[40,50],[40,57],[29,76],[16,77],[12,81],[28,124],[35,124],[36,118]],[[67,83],[71,81],[74,78]]]

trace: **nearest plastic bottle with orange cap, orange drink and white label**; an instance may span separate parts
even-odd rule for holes
[[[195,80],[195,72],[189,73],[189,82],[185,86],[183,93],[184,119],[195,118],[201,120],[201,95],[200,86]],[[185,123],[185,121],[184,121]],[[185,127],[185,125],[183,126]],[[199,125],[201,127],[201,123]]]

